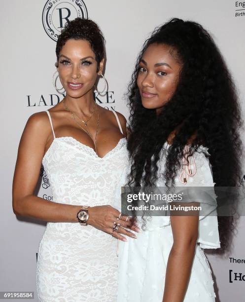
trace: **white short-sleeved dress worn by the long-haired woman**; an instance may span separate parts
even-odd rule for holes
[[[165,143],[159,165],[160,173],[164,172],[165,151],[169,146]],[[179,175],[183,172],[180,169],[175,187],[214,186],[209,160],[201,151],[209,154],[208,148],[204,146],[194,152],[192,158],[196,164],[195,175],[189,176],[184,185],[179,180]],[[124,177],[126,178],[126,174]],[[160,180],[157,185],[164,186]],[[217,216],[214,212],[216,213],[215,208],[211,215],[199,217],[199,236],[184,302],[215,301],[210,265],[203,251],[220,247]],[[146,227],[140,233],[135,232],[137,239],[127,237],[128,242],[119,241],[117,302],[162,302],[166,268],[173,245],[170,216],[152,216]],[[179,273],[181,274],[181,267]]]

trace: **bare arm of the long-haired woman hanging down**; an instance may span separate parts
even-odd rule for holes
[[[197,203],[179,203],[182,206]],[[198,213],[195,216],[171,216],[174,243],[169,255],[163,302],[183,302],[188,287],[198,238]]]

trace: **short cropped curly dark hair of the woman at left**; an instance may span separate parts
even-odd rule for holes
[[[105,38],[99,26],[91,19],[75,18],[74,20],[67,22],[56,43],[56,67],[59,65],[60,51],[69,39],[82,39],[87,40],[90,43],[91,48],[95,53],[98,71],[99,63],[105,57]]]

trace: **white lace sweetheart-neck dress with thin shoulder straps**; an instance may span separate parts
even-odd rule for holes
[[[53,130],[50,115],[49,118]],[[120,123],[119,128],[122,132]],[[127,163],[126,139],[120,139],[101,158],[72,137],[55,138],[54,130],[53,135],[54,140],[42,160],[53,201],[113,205]],[[90,225],[47,223],[36,268],[39,301],[115,302],[117,246],[116,238]]]

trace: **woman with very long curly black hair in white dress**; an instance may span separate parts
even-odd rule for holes
[[[155,29],[139,54],[129,106],[130,188],[238,186],[240,108],[224,59],[200,24],[175,18]],[[141,218],[137,239],[119,242],[118,302],[215,301],[202,249],[227,248],[232,218]]]

